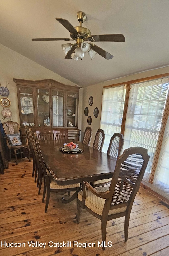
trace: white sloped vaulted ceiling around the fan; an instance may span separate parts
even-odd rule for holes
[[[32,38],[67,37],[55,18],[82,26],[92,35],[123,34],[125,42],[96,42],[114,57],[106,60],[86,53],[83,60],[66,60],[61,44]],[[85,87],[141,71],[169,65],[168,0],[1,0],[0,43],[60,76]],[[73,41],[75,43],[75,41]]]

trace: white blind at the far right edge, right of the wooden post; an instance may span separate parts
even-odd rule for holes
[[[169,199],[169,117],[151,189]]]

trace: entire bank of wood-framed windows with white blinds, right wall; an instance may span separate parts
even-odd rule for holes
[[[169,115],[168,76],[169,74],[163,74],[161,77],[158,75],[140,81],[126,82],[128,92],[121,84],[111,88],[104,87],[102,99],[100,127],[107,136],[105,146],[109,144],[113,133],[123,131],[123,150],[133,146],[147,148],[150,160],[143,180],[154,183],[152,189],[155,190],[156,187],[156,191],[155,181],[165,183],[167,189],[169,188],[169,121],[166,121]],[[122,97],[114,97],[119,92]],[[118,99],[121,99],[121,105]],[[163,192],[160,193],[163,195]]]

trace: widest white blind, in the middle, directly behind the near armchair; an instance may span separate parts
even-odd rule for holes
[[[149,163],[143,180],[148,182],[168,92],[169,78],[130,85],[124,146],[148,149]]]

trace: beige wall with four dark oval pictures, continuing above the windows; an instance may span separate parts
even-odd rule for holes
[[[90,145],[93,146],[95,134],[96,134],[97,130],[100,128],[103,86],[116,84],[116,83],[122,83],[122,82],[130,81],[130,80],[134,80],[134,79],[153,76],[153,75],[165,74],[165,73],[169,73],[169,66],[165,67],[165,68],[159,68],[159,69],[154,69],[154,70],[150,70],[150,71],[145,71],[145,72],[138,73],[135,75],[129,75],[126,77],[106,81],[103,83],[98,83],[98,84],[83,88],[81,140],[83,138],[86,126],[88,126],[87,116],[85,116],[85,114],[84,114],[85,107],[88,107],[89,115],[92,117],[92,123],[90,126],[92,127],[92,131],[93,131]],[[89,106],[89,104],[88,104],[88,100],[89,100],[90,96],[93,96],[93,105],[92,106]],[[93,111],[94,111],[95,107],[98,107],[98,109],[99,109],[99,115],[97,118],[95,118],[93,115]]]

